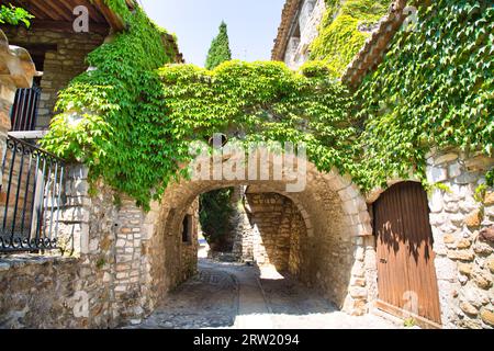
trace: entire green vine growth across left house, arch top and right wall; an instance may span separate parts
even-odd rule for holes
[[[245,143],[305,143],[321,171],[336,167],[363,190],[414,170],[425,179],[425,157],[435,146],[493,152],[491,2],[419,8],[416,31],[395,36],[355,95],[332,77],[357,42],[345,60],[328,52],[300,72],[272,61],[228,61],[213,70],[169,65],[165,32],[143,10],[108,3],[128,30],[89,55],[94,69],[61,92],[63,113],[43,145],[89,165],[92,177],[145,207],[186,174],[190,143],[214,133]],[[369,18],[374,12],[363,15],[360,3],[346,1],[339,16],[374,21],[381,10]]]

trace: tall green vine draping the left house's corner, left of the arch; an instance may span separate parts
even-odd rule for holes
[[[88,56],[92,68],[59,94],[56,110],[63,113],[42,145],[85,162],[93,178],[103,177],[147,205],[155,184],[176,170],[168,146],[175,135],[161,110],[156,70],[171,63],[175,53],[164,44],[166,32],[142,9],[131,12],[124,0],[106,3],[128,29]]]

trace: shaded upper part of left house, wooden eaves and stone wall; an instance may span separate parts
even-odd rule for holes
[[[14,123],[14,132],[46,131],[54,116],[58,92],[88,69],[87,56],[102,45],[110,35],[125,27],[104,1],[10,1],[26,9],[35,18],[29,29],[25,26],[1,25],[0,29],[11,45],[25,48],[38,71],[34,78],[36,111],[34,121]],[[127,1],[132,9],[135,3]],[[88,9],[88,26],[78,27],[78,19],[83,15],[80,7]],[[170,43],[171,36],[164,37]],[[178,55],[178,49],[177,49]],[[14,102],[22,105],[22,95]],[[20,107],[22,110],[22,107]],[[26,127],[26,124],[29,126]],[[23,133],[25,135],[25,133]],[[32,135],[42,135],[34,133]]]

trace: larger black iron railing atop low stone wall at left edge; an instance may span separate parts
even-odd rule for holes
[[[57,248],[64,160],[8,137],[0,185],[0,252]]]

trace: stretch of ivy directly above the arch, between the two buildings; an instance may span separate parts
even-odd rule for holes
[[[350,95],[314,63],[300,73],[282,63],[228,61],[210,71],[190,65],[160,70],[164,104],[187,149],[190,140],[225,133],[240,141],[292,141],[307,146],[322,170],[350,172],[355,129]],[[180,152],[180,155],[182,155]]]

